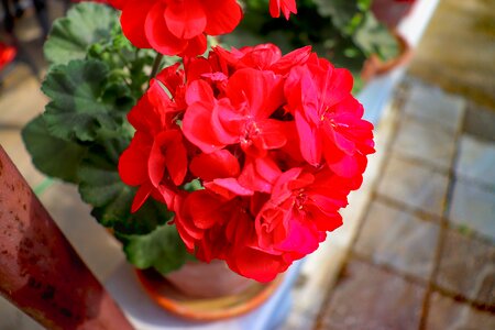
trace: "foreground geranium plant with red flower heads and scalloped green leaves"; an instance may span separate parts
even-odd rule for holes
[[[22,133],[33,163],[78,186],[136,268],[182,268],[176,284],[185,266],[207,277],[220,261],[235,274],[228,287],[261,302],[273,290],[263,283],[341,226],[361,185],[373,127],[352,75],[310,46],[215,45],[209,35],[241,21],[235,0],[110,2],[120,20],[80,3],[50,33],[51,101]],[[272,1],[271,13],[288,18],[293,3]]]

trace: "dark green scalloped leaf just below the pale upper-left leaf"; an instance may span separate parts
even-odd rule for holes
[[[67,141],[94,141],[101,129],[117,131],[124,122],[133,99],[129,89],[110,85],[109,70],[99,61],[72,61],[54,66],[43,81],[42,90],[52,101],[45,108],[50,132]]]

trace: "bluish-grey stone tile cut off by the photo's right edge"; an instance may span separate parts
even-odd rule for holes
[[[455,174],[495,189],[495,142],[462,135]]]

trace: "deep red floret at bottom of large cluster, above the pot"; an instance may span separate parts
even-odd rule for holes
[[[227,199],[208,190],[190,194],[176,217],[186,246],[205,262],[221,258],[250,278],[268,282],[293,263],[290,255],[270,253],[257,245],[251,202]]]

